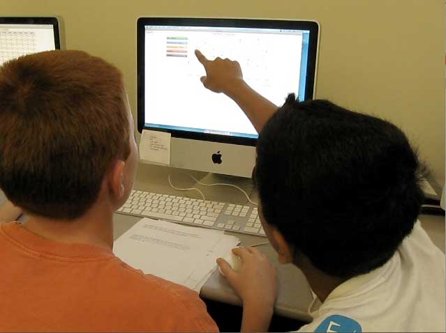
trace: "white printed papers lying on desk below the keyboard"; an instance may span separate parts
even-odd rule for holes
[[[216,268],[216,258],[239,243],[223,231],[144,218],[114,242],[114,254],[145,274],[197,292]]]

